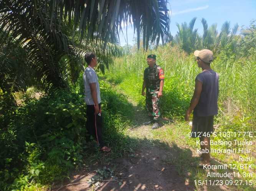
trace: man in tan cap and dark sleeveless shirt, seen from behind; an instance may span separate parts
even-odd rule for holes
[[[195,91],[190,107],[185,114],[188,121],[193,111],[192,137],[200,138],[201,159],[203,164],[210,164],[210,135],[213,133],[213,117],[218,114],[219,75],[210,67],[213,52],[196,50],[194,55],[202,72],[195,78]],[[203,165],[201,164],[201,165]]]

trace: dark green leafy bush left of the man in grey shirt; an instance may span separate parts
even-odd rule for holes
[[[3,169],[8,169],[1,170],[2,180],[10,184],[19,174],[20,180],[24,177],[29,182],[43,180],[41,175],[46,173],[46,161],[63,165],[66,171],[79,167],[86,143],[85,113],[82,95],[65,90],[56,90],[40,100],[31,99],[17,107],[1,134],[1,161],[5,161]],[[49,181],[56,177],[59,176],[52,175]]]

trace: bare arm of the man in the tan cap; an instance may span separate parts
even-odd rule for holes
[[[194,110],[194,108],[197,106],[197,104],[199,102],[202,88],[203,88],[203,83],[201,83],[200,81],[197,80],[196,84],[195,84],[195,91],[194,91],[193,97],[190,101],[190,106],[188,107],[188,110],[185,115],[186,121],[189,120],[190,113]]]

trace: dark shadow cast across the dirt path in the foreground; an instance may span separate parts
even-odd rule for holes
[[[186,156],[189,162],[198,157],[192,157],[190,149],[181,149],[175,143],[171,146],[166,142],[149,139],[129,138],[129,142],[137,144],[137,149],[130,149],[124,156],[112,158],[111,154],[102,154],[101,160],[94,163],[83,172],[86,176],[78,184],[65,186],[59,190],[194,190],[193,174],[184,174],[183,165],[178,166],[180,155]],[[129,147],[129,145],[127,145]],[[133,147],[133,146],[131,146]],[[111,160],[106,160],[111,158]],[[110,169],[113,173],[104,177],[99,184],[90,187],[88,180],[98,178],[95,170]],[[185,167],[185,166],[184,166]],[[109,171],[109,172],[110,172]],[[110,176],[112,175],[112,177]],[[73,180],[78,178],[76,174]],[[96,186],[95,186],[96,185]]]

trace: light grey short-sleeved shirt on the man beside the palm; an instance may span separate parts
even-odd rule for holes
[[[89,85],[92,83],[96,83],[97,99],[98,99],[98,104],[100,104],[101,92],[99,91],[98,76],[92,67],[88,66],[84,70],[83,79],[84,79],[84,95],[85,95],[84,101],[86,102],[86,105],[94,105],[94,101],[92,100],[92,95],[91,95],[91,88]]]

